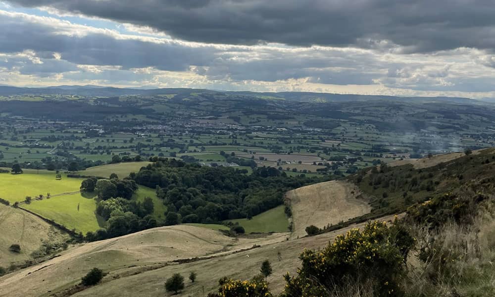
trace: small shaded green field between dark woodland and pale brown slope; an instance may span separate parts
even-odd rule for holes
[[[255,215],[252,219],[230,220],[238,222],[244,227],[246,233],[288,232],[289,220],[284,212],[284,205],[277,206],[263,213]]]

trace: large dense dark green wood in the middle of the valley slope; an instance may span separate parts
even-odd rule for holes
[[[158,158],[132,173],[136,183],[157,188],[167,206],[167,225],[213,223],[247,218],[281,205],[289,190],[319,181],[287,177],[274,167],[255,168],[251,175],[231,167],[201,167],[182,160]],[[180,220],[177,220],[177,215]]]

